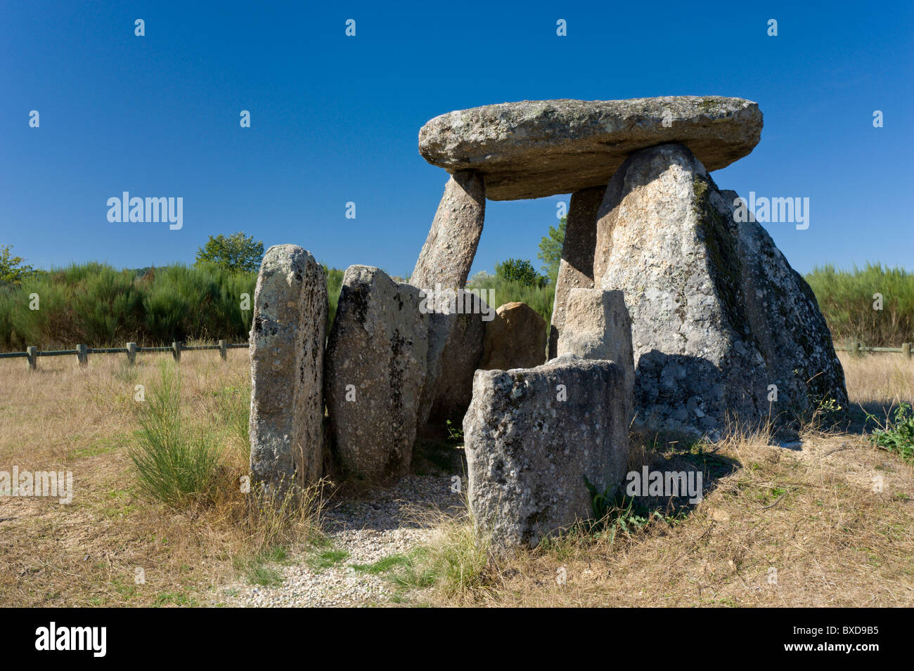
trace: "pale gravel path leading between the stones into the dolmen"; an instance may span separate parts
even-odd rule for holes
[[[324,510],[324,532],[330,544],[276,566],[282,583],[270,586],[233,582],[220,590],[228,606],[371,606],[389,603],[397,585],[357,571],[353,565],[372,564],[406,554],[430,535],[433,519],[459,515],[460,494],[452,493],[451,477],[408,476],[392,488],[379,488],[357,499],[331,503]],[[332,564],[316,565],[322,553]],[[341,553],[348,553],[345,558]],[[310,561],[309,561],[310,560]]]

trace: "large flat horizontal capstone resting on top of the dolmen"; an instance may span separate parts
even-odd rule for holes
[[[451,173],[483,173],[492,200],[516,200],[601,186],[630,153],[662,142],[717,170],[751,152],[761,126],[759,106],[739,98],[525,100],[435,117],[419,152]]]

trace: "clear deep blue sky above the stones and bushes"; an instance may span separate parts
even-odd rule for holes
[[[409,274],[447,180],[417,150],[430,118],[725,95],[756,100],[765,127],[713,177],[746,197],[810,198],[808,229],[767,225],[793,267],[914,269],[914,4],[795,5],[5,3],[0,244],[36,267],[143,267],[192,262],[207,236],[243,230]],[[183,197],[184,227],[110,223],[123,191]],[[506,257],[539,267],[559,200],[489,201],[473,272]]]

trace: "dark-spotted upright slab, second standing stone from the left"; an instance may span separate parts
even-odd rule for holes
[[[419,289],[376,267],[346,269],[324,381],[331,446],[345,477],[384,480],[409,471],[428,366],[428,317]],[[346,400],[350,384],[355,401]]]

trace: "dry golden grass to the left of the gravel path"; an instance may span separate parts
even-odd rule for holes
[[[309,538],[315,501],[286,510],[252,507],[248,473],[248,351],[190,351],[178,371],[191,425],[222,447],[215,505],[169,509],[144,499],[127,453],[135,443],[135,385],[157,383],[169,354],[0,361],[0,470],[69,470],[73,501],[0,498],[0,604],[207,604],[208,589],[264,550]],[[144,583],[134,578],[144,573]]]

